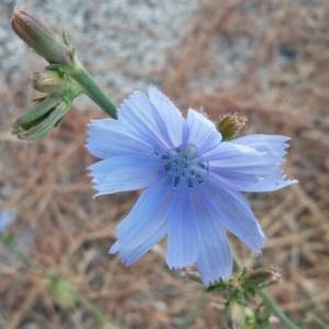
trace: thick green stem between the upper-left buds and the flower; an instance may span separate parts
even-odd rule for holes
[[[67,70],[70,77],[83,87],[86,94],[89,95],[104,112],[116,118],[116,106],[99,88],[77,57],[73,63],[75,64]]]

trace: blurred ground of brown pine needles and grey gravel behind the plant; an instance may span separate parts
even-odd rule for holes
[[[92,200],[84,143],[89,120],[104,116],[97,105],[81,97],[37,143],[8,133],[45,67],[10,29],[15,4],[68,31],[117,104],[152,83],[182,110],[238,112],[248,133],[292,137],[286,170],[299,184],[248,195],[269,237],[262,256],[231,240],[243,264],[281,273],[271,292],[300,328],[329,328],[326,0],[0,1],[0,215],[14,219],[15,246],[0,246],[0,328],[226,328],[225,295],[168,271],[163,246],[131,268],[107,256],[137,194]]]

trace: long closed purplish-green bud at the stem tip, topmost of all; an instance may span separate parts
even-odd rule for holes
[[[11,26],[35,53],[50,64],[71,63],[70,48],[64,38],[20,8],[15,8]]]

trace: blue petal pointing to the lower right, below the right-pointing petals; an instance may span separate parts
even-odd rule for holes
[[[213,219],[229,229],[254,252],[261,252],[265,236],[248,202],[238,192],[224,190],[212,180],[200,193]]]

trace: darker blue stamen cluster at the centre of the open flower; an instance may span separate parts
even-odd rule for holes
[[[205,182],[208,166],[195,159],[195,146],[188,145],[170,150],[156,148],[155,152],[163,161],[162,172],[170,179],[172,189],[186,186],[192,190]]]

